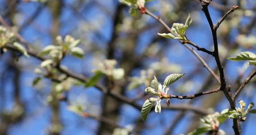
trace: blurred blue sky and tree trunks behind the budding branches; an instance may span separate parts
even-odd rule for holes
[[[256,1],[214,0],[209,6],[216,24],[234,5],[238,5],[239,10],[232,12],[218,29],[219,54],[232,92],[255,70],[247,66],[247,62],[226,58],[241,51],[256,52]],[[200,47],[213,50],[212,35],[199,1],[153,0],[147,2],[146,7],[170,27],[174,22],[185,23],[190,13],[193,21],[187,38]],[[191,95],[218,88],[219,84],[178,40],[157,34],[167,32],[158,21],[141,15],[140,11],[131,16],[129,7],[119,1],[0,0],[0,15],[36,53],[45,46],[56,44],[58,35],[80,39],[84,59],[66,56],[61,62],[72,73],[92,77],[92,70],[105,59],[115,59],[117,67],[125,71],[124,78],[113,84],[109,84],[106,77],[98,82],[106,88],[111,87],[110,91],[118,93],[117,96],[97,87],[85,88],[84,84],[73,84],[69,90],[56,95],[53,92],[56,82],[51,79],[43,78],[37,85],[32,84],[38,77],[34,69],[40,66],[40,60],[12,51],[3,53],[0,56],[0,134],[125,134],[127,131],[186,134],[199,127],[199,118],[205,115],[188,107],[209,113],[229,107],[222,92],[194,100],[171,99],[170,107],[164,107],[160,114],[150,113],[144,123],[138,106],[151,96],[144,93],[145,83],[128,89],[133,77],[143,80],[155,74],[159,82],[163,82],[169,74],[186,73],[170,86],[172,95]],[[218,73],[213,57],[197,52]],[[251,80],[237,101],[256,103],[255,84],[255,80]],[[118,98],[119,95],[122,97]],[[53,102],[55,96],[62,98]],[[84,116],[70,111],[72,106],[79,106]],[[241,123],[243,134],[255,133],[255,120],[255,115],[249,114],[246,122]],[[227,120],[220,128],[226,134],[233,134],[232,120]]]

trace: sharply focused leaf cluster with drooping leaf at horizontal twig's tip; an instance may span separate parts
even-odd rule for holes
[[[154,104],[156,102],[155,106],[155,112],[156,113],[161,113],[161,100],[163,98],[169,98],[168,96],[168,91],[169,88],[166,88],[170,84],[176,82],[179,78],[181,78],[184,74],[170,74],[168,75],[167,78],[164,80],[164,86],[162,86],[156,77],[151,81],[150,87],[147,87],[145,89],[145,93],[153,95],[153,96],[158,96],[157,98],[149,98],[149,100],[146,100],[145,103],[142,106],[141,114],[142,118],[145,121],[147,118],[147,115],[149,114],[149,106]],[[150,104],[150,105],[149,105]],[[151,105],[151,107],[152,107]],[[167,100],[167,105],[169,106],[169,100]],[[150,109],[151,109],[150,107]]]

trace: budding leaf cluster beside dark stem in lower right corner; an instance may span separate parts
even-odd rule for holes
[[[244,122],[246,120],[246,117],[245,117],[246,114],[248,114],[248,113],[254,114],[255,109],[252,109],[254,107],[253,102],[251,102],[248,105],[246,110],[245,110],[246,104],[244,101],[240,100],[239,105],[240,105],[240,108],[236,108],[236,110],[225,109],[221,112],[221,114],[226,115],[226,116],[228,116],[228,118],[231,118],[231,119],[238,119],[241,122]]]

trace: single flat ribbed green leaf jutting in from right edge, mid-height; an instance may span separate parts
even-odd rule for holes
[[[234,61],[256,60],[256,55],[252,52],[241,52],[236,57],[229,57],[228,59]]]

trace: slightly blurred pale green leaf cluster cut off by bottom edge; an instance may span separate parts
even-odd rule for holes
[[[219,129],[219,125],[224,122],[226,118],[223,118],[223,116],[218,112],[215,112],[214,114],[209,114],[204,118],[200,118],[200,120],[203,126],[195,129],[195,131],[192,131],[191,133],[188,133],[188,135],[205,134],[208,132],[220,135],[225,134],[224,131]]]

